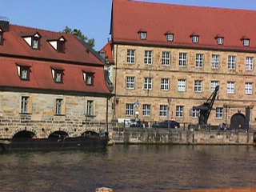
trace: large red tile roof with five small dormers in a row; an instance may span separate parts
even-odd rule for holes
[[[113,0],[112,11],[111,34],[115,43],[256,51],[253,10]],[[147,32],[146,40],[138,35],[141,29]],[[174,34],[174,42],[166,41],[166,31]],[[199,35],[196,45],[190,37],[193,33]],[[217,35],[224,38],[223,46],[217,44]],[[242,44],[245,36],[250,38],[250,47]]]

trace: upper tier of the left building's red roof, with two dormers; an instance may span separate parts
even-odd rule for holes
[[[35,33],[40,34],[40,50],[33,50],[22,38],[24,36],[32,36]],[[58,39],[61,37],[66,39],[65,54],[58,53],[54,50],[48,40]],[[85,64],[94,64],[103,66],[102,61],[95,57],[92,52],[87,51],[86,47],[71,34],[63,34],[48,30],[38,30],[26,26],[10,25],[10,31],[4,33],[4,46],[0,46],[0,54],[19,55],[22,57],[53,59],[64,62],[79,62]]]

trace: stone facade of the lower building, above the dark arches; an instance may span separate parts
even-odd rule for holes
[[[21,113],[22,97],[29,98],[26,114]],[[59,115],[56,114],[56,99],[63,101]],[[93,115],[86,115],[87,101],[94,102]],[[86,131],[100,133],[106,131],[106,103],[107,98],[1,91],[0,138],[12,138],[22,130],[33,132],[36,138],[48,138],[58,130],[65,131],[70,137]]]

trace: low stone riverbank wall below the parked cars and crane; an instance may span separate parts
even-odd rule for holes
[[[254,132],[208,130],[123,130],[110,133],[113,144],[254,145]]]

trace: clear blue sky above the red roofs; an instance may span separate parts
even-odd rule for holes
[[[256,0],[146,1],[256,10]],[[0,0],[0,16],[9,18],[12,24],[44,30],[77,28],[94,38],[95,49],[100,50],[110,38],[111,4],[112,0]]]

